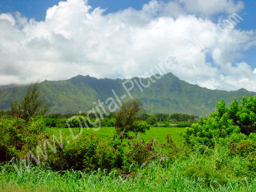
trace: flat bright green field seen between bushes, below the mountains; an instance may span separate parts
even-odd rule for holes
[[[59,131],[62,131],[64,134],[64,138],[71,137],[70,130],[68,128],[50,128],[49,133],[54,134],[56,136],[59,135]],[[74,134],[78,134],[79,128],[72,128]],[[92,129],[87,130],[86,128],[82,130],[82,134],[95,134],[98,138],[108,139],[114,135],[114,127],[102,127],[98,131],[94,131]],[[148,141],[151,138],[157,139],[158,142],[164,142],[166,140],[166,135],[170,134],[171,138],[177,144],[182,143],[181,134],[185,133],[186,128],[178,128],[178,127],[151,127],[150,130],[146,131],[146,134],[139,134],[139,138],[143,138]]]

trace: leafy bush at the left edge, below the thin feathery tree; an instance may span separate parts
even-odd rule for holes
[[[45,128],[42,118],[30,118],[29,122],[25,122],[22,118],[1,118],[0,162],[20,158],[37,146],[45,137]]]

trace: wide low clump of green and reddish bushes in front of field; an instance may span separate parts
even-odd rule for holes
[[[94,136],[84,136],[66,143],[63,149],[50,156],[47,163],[54,170],[127,170],[132,164],[142,166],[158,157],[154,148],[155,140],[130,140],[121,142],[115,135],[109,142]]]

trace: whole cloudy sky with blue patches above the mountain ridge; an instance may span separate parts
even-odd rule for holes
[[[255,8],[255,0],[1,0],[0,85],[146,77],[161,64],[209,89],[256,91]]]

